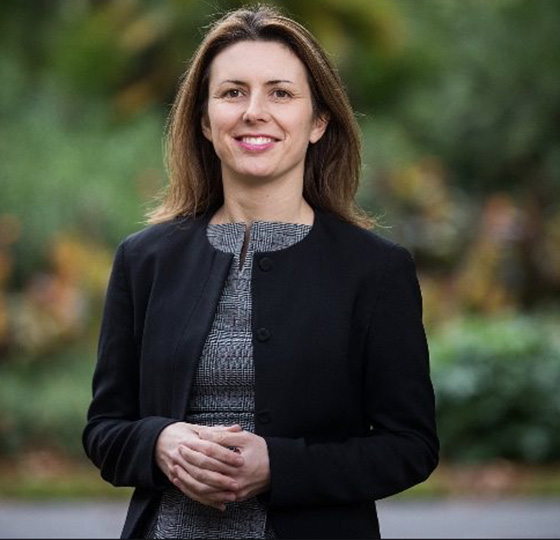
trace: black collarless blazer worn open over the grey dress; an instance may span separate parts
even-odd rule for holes
[[[123,537],[140,534],[171,484],[156,439],[185,417],[232,255],[210,214],[118,247],[83,442],[101,476],[134,486]],[[422,299],[409,253],[315,209],[300,242],[256,253],[255,431],[280,538],[376,538],[375,500],[425,480],[438,460]]]

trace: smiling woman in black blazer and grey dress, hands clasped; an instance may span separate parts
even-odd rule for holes
[[[118,247],[84,431],[123,537],[376,538],[438,440],[408,252],[368,231],[360,137],[314,38],[218,21],[168,128],[170,189]]]

